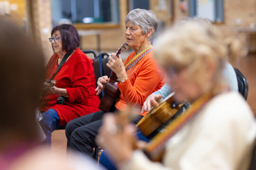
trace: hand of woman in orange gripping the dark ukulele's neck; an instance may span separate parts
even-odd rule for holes
[[[120,56],[117,57],[115,53],[111,53],[111,56],[109,57],[109,59],[110,60],[107,63],[107,66],[116,73],[119,80],[122,78],[127,79],[124,63],[122,62],[122,59],[120,58]]]

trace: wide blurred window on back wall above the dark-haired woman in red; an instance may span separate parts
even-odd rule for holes
[[[119,23],[119,0],[51,0],[53,25]]]

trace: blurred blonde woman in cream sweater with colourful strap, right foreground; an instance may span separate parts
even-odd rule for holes
[[[187,100],[191,107],[140,146],[146,154],[133,150],[134,126],[113,133],[111,129],[118,128],[115,116],[106,115],[97,142],[108,149],[118,169],[247,170],[256,120],[241,94],[229,90],[222,74],[227,56],[239,55],[238,41],[225,41],[215,27],[191,22],[162,34],[154,52],[175,100]],[[161,153],[161,163],[149,159]]]

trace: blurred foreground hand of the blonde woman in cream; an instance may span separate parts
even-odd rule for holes
[[[112,160],[120,166],[131,158],[133,134],[135,132],[136,129],[132,124],[125,126],[123,129],[118,129],[115,115],[109,113],[103,117],[96,142],[101,147],[108,149]]]

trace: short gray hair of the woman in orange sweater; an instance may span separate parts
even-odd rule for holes
[[[133,9],[131,10],[125,18],[125,23],[130,21],[135,26],[140,26],[142,33],[146,34],[150,27],[153,28],[152,34],[148,37],[151,40],[152,35],[155,33],[158,21],[156,19],[155,13],[152,10],[146,9]]]

